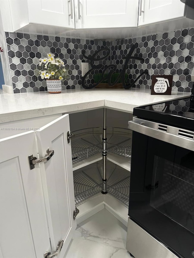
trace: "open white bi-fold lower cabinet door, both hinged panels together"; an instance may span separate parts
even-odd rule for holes
[[[69,115],[0,140],[0,257],[39,258],[64,241],[62,258],[76,228]],[[28,156],[44,158],[30,169]]]

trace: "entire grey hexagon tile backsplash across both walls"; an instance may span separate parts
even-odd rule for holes
[[[143,75],[134,87],[150,89],[152,74],[172,74],[172,90],[190,92],[192,88],[194,28],[110,42],[11,32],[6,32],[5,35],[14,93],[46,90],[46,81],[36,77],[34,70],[39,64],[38,59],[46,57],[49,52],[60,57],[65,62],[65,67],[71,70],[70,79],[62,83],[62,89],[75,89],[82,88],[81,62],[87,61],[82,56],[83,49],[88,55],[102,47],[109,47],[110,57],[101,63],[115,64],[116,72],[120,72],[125,61],[123,57],[132,44],[136,47],[133,55],[143,57],[145,62],[129,61],[126,72],[130,82],[143,70],[149,71],[149,75]],[[93,83],[92,74],[86,83]]]

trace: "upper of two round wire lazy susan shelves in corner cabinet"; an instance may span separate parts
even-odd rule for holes
[[[78,162],[102,152],[102,127],[74,131],[71,140],[73,167]],[[131,157],[132,131],[124,128],[107,127],[107,152]]]

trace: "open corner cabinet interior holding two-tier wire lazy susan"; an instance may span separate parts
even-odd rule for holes
[[[132,131],[116,127],[116,125],[127,126],[129,114],[121,113],[107,109],[108,124],[113,124],[114,127],[106,126],[106,187],[108,194],[128,207]],[[73,120],[72,129],[76,128],[73,125],[76,115],[73,114],[73,116],[74,119],[70,114],[70,127]],[[122,121],[116,121],[115,117],[120,116],[123,116]],[[87,117],[85,122],[83,122],[84,117]],[[92,122],[92,117],[95,117],[95,122]],[[114,123],[112,123],[113,117]],[[100,109],[99,111],[91,110],[87,114],[79,113],[76,124],[77,127],[89,124],[103,125],[102,118],[103,113]],[[83,129],[72,130],[72,132],[75,134],[71,139],[75,205],[79,206],[88,198],[101,194],[103,190],[103,127],[83,127]]]

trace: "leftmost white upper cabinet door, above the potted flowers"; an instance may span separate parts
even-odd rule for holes
[[[75,28],[74,0],[27,0],[27,4],[29,23]]]

